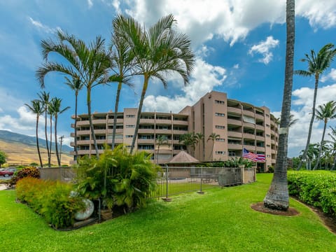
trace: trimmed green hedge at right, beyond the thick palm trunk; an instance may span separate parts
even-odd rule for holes
[[[326,214],[336,214],[335,173],[288,172],[288,192]]]

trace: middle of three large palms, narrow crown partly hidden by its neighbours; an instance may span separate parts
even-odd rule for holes
[[[118,24],[113,20],[113,29],[118,31]],[[116,94],[116,104],[114,107],[113,116],[113,134],[112,134],[112,150],[115,147],[116,141],[116,126],[117,126],[117,116],[118,116],[118,106],[120,99],[120,92],[123,84],[132,87],[130,83],[130,76],[132,71],[132,66],[134,65],[134,54],[123,36],[119,36],[118,32],[112,34],[111,43],[109,50],[111,52],[111,61],[113,64],[112,71],[115,73],[109,79],[110,82],[117,81],[118,88]]]

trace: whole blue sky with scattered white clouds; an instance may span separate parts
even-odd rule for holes
[[[301,62],[310,50],[318,52],[327,43],[336,43],[336,1],[297,0],[295,3],[294,69],[307,69]],[[191,40],[195,69],[190,84],[179,76],[169,76],[165,89],[151,80],[144,111],[178,113],[193,105],[211,90],[226,92],[255,106],[267,106],[280,117],[286,54],[285,0],[0,0],[0,130],[35,135],[36,116],[25,104],[38,99],[41,88],[35,77],[43,64],[41,40],[55,39],[57,29],[94,41],[96,36],[111,41],[111,22],[118,13],[151,27],[172,13],[176,29]],[[142,78],[134,78],[134,87],[123,87],[119,111],[139,104]],[[44,91],[62,99],[62,107],[71,109],[59,116],[57,133],[70,144],[74,93],[64,85],[64,76],[50,73]],[[311,118],[314,78],[294,76],[291,113],[298,122],[290,128],[288,157],[304,149]],[[87,113],[86,91],[78,97],[78,113]],[[92,90],[92,112],[113,110],[116,84],[100,85]],[[336,63],[321,76],[317,105],[336,99]],[[43,138],[43,117],[39,137]],[[328,125],[336,127],[336,120]],[[321,141],[323,122],[316,120],[311,143]],[[328,139],[328,132],[326,134]]]

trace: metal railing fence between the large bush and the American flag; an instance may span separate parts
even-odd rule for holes
[[[243,168],[226,167],[162,167],[152,198],[200,191],[218,186],[244,183]]]

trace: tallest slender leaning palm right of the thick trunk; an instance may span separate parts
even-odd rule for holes
[[[314,50],[311,50],[310,55],[307,53],[305,54],[305,58],[301,59],[302,62],[308,63],[308,70],[296,70],[294,73],[298,74],[300,76],[314,76],[315,78],[315,88],[314,88],[314,99],[313,99],[313,109],[311,113],[311,119],[309,123],[309,130],[308,130],[308,137],[307,137],[307,144],[305,151],[302,155],[302,160],[306,158],[307,155],[307,149],[310,143],[311,138],[311,130],[314,123],[315,118],[315,107],[316,107],[316,96],[317,96],[317,89],[318,89],[318,79],[321,76],[321,74],[328,69],[330,66],[330,63],[334,59],[336,54],[336,49],[334,48],[334,45],[332,43],[328,43],[327,45],[324,45],[323,48],[318,52],[316,55],[316,52]],[[300,169],[302,165],[302,160],[300,162],[299,167],[297,169]]]

